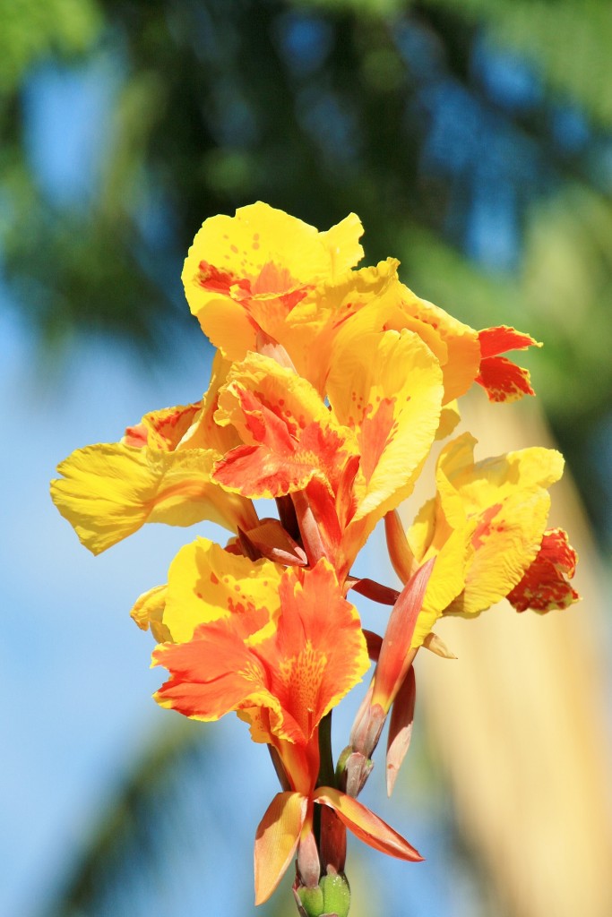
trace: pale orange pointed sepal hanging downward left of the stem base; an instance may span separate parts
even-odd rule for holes
[[[306,796],[277,793],[255,834],[255,904],[268,900],[289,866],[306,820]]]

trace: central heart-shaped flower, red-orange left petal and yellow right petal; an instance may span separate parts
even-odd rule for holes
[[[337,354],[330,409],[316,389],[273,359],[250,354],[219,392],[219,425],[243,445],[217,463],[231,492],[306,491],[339,579],[374,525],[406,498],[434,442],[442,397],[436,358],[417,335],[360,337]]]

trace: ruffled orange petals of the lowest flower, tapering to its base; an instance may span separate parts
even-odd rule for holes
[[[198,720],[239,711],[255,741],[277,747],[294,789],[307,793],[318,773],[318,724],[369,665],[359,615],[325,560],[312,570],[287,569],[267,588],[261,577],[254,581],[255,604],[155,650],[154,664],[171,673],[156,700]],[[198,591],[206,600],[209,584],[200,580]]]

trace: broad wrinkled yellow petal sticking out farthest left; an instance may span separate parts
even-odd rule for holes
[[[51,497],[94,554],[146,522],[193,525],[208,519],[236,531],[257,524],[252,504],[210,478],[218,453],[162,452],[122,443],[77,449],[58,466]]]

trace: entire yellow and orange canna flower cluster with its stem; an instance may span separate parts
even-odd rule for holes
[[[506,598],[517,611],[574,602],[575,554],[547,529],[562,457],[540,447],[475,460],[464,433],[440,446],[436,493],[405,530],[406,501],[432,447],[477,383],[491,402],[533,394],[505,354],[540,346],[501,326],[476,331],[419,299],[398,262],[356,269],[355,215],[317,232],[266,204],[204,223],[184,264],[192,313],[217,353],[202,400],[145,414],[111,444],[59,466],[52,497],[95,554],[148,522],[211,520],[132,617],[158,642],[168,680],[155,699],[196,720],[234,711],[269,747],[281,781],[255,841],[256,900],[296,856],[303,914],[346,913],[348,828],[391,856],[415,848],[357,801],[389,717],[387,787],[406,754],[420,646],[447,614]],[[253,500],[276,502],[260,518]],[[384,520],[401,592],[351,575]],[[347,595],[392,606],[362,630]],[[334,768],[330,714],[375,661]]]

